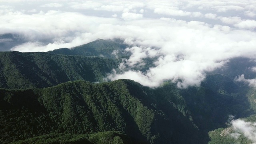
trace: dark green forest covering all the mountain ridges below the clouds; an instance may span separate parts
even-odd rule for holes
[[[230,136],[228,119],[256,122],[256,90],[234,82],[256,77],[254,61],[232,59],[186,89],[102,82],[128,58],[124,48],[96,40],[71,50],[0,52],[0,143],[250,143]],[[144,61],[150,67],[154,59]]]

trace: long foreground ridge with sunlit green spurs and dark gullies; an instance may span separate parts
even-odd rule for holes
[[[1,142],[52,133],[120,131],[136,142],[202,143],[184,100],[175,91],[168,89],[162,97],[131,80],[1,89]]]

